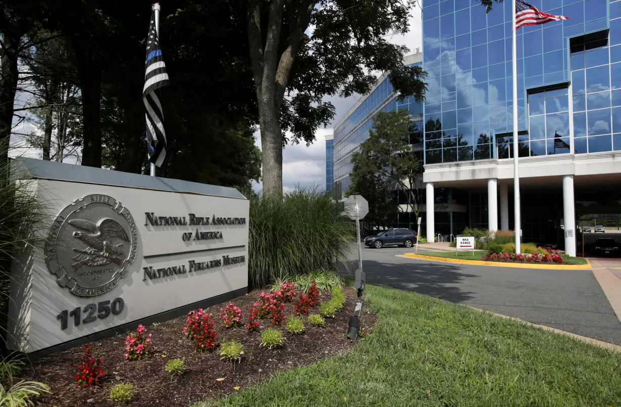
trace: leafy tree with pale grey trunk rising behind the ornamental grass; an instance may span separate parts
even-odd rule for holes
[[[415,0],[248,0],[248,45],[263,146],[263,189],[282,194],[283,146],[312,143],[334,106],[325,95],[365,94],[391,72],[401,97],[425,95],[425,73],[403,65]],[[289,132],[289,133],[288,133]],[[291,134],[291,137],[286,137]]]

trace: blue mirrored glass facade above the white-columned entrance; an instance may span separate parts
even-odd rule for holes
[[[569,19],[517,31],[520,156],[621,150],[621,1],[530,2]],[[511,2],[422,6],[425,163],[510,158]]]

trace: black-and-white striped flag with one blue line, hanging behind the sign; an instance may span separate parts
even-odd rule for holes
[[[147,62],[145,63],[145,87],[142,100],[147,109],[147,143],[149,161],[161,167],[166,157],[166,133],[160,99],[155,91],[168,85],[166,65],[161,58],[160,39],[155,30],[155,10],[151,11],[151,24],[147,34]]]

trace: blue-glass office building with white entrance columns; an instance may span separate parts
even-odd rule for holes
[[[522,235],[563,245],[563,223],[621,213],[621,1],[530,2],[569,19],[517,32]],[[423,205],[424,229],[514,229],[511,2],[489,14],[479,0],[422,7],[427,99],[408,108],[425,123],[422,203],[433,211]],[[334,176],[343,190],[374,113],[401,108],[391,92],[380,78],[337,124]]]

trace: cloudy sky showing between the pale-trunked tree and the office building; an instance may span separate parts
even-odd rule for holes
[[[406,35],[394,35],[390,42],[406,45],[413,54],[417,47],[422,49],[422,16],[420,7],[415,7],[410,16],[410,32]],[[325,135],[332,134],[333,126],[345,116],[351,106],[356,103],[360,96],[340,98],[337,95],[328,96],[324,101],[332,102],[336,108],[336,114],[332,123],[327,128],[317,129],[315,142],[311,146],[306,144],[289,145],[283,151],[283,189],[290,192],[299,187],[318,187],[325,189]],[[255,133],[256,146],[261,148],[261,136],[259,131]],[[256,190],[261,189],[261,182],[255,183]]]

